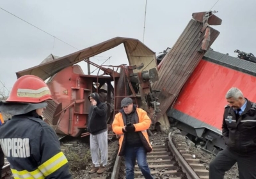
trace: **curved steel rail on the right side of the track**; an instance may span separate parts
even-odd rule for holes
[[[195,171],[189,166],[188,162],[185,161],[185,159],[180,155],[179,151],[177,148],[174,146],[172,142],[172,137],[171,137],[172,132],[168,134],[168,140],[169,140],[169,147],[175,156],[176,161],[179,163],[179,166],[182,168],[182,171],[186,173],[186,176],[188,179],[200,179],[199,176],[195,173]]]

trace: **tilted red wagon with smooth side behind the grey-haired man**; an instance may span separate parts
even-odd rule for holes
[[[208,50],[166,113],[199,147],[217,154],[225,148],[221,125],[231,87],[256,101],[256,63]]]

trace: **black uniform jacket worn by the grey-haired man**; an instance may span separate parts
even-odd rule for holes
[[[238,118],[233,108],[225,106],[223,139],[230,150],[241,154],[256,153],[256,113],[253,116],[249,115],[252,104],[247,100],[246,108]]]

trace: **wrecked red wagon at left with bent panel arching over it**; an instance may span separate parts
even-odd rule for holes
[[[124,45],[132,66],[99,66],[89,60],[120,44]],[[85,75],[77,65],[81,61],[96,66],[97,75]],[[154,128],[154,118],[159,111],[157,90],[151,88],[151,83],[158,80],[156,54],[138,39],[117,37],[64,57],[50,55],[40,65],[17,72],[18,78],[23,75],[48,79],[53,100],[47,101],[44,120],[59,134],[77,137],[86,132],[91,106],[88,96],[93,92],[98,92],[101,101],[108,104],[109,130],[122,98],[127,96],[148,112]],[[165,120],[162,123],[168,125],[168,118]]]

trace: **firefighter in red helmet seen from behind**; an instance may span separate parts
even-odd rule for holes
[[[0,144],[14,178],[72,178],[56,133],[41,117],[49,99],[47,84],[25,75],[0,102],[0,110],[13,115],[0,127]]]

